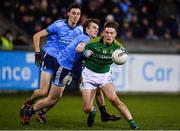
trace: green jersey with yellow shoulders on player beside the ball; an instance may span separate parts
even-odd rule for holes
[[[123,46],[117,40],[114,40],[111,45],[106,45],[102,37],[91,39],[85,49],[93,51],[94,55],[85,60],[85,67],[96,73],[109,72],[110,65],[113,63],[112,53],[120,47]]]

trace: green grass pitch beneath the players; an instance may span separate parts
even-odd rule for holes
[[[64,95],[47,113],[47,124],[37,123],[33,117],[29,126],[22,126],[18,115],[21,104],[30,94],[0,94],[0,130],[126,130],[127,121],[103,123],[99,112],[92,128],[86,126],[86,114],[82,111],[80,96]],[[180,130],[180,95],[120,95],[142,130]],[[107,109],[118,114],[106,100]]]

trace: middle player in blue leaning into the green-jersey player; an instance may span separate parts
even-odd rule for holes
[[[72,42],[72,44],[68,45],[63,51],[59,53],[57,57],[59,69],[64,69],[64,72],[62,72],[63,70],[58,70],[56,72],[56,76],[54,77],[55,79],[53,79],[54,85],[51,87],[48,97],[38,101],[36,104],[33,105],[33,107],[25,111],[24,117],[28,118],[26,121],[27,123],[29,123],[31,116],[35,112],[53,106],[58,101],[58,99],[62,96],[62,93],[64,91],[64,83],[66,83],[65,82],[66,78],[64,79],[64,77],[62,77],[63,79],[61,79],[61,77],[59,76],[61,74],[62,76],[66,76],[67,73],[69,73],[70,70],[72,69],[73,63],[76,61],[76,58],[77,58],[76,57],[77,53],[75,51],[76,46],[81,42],[87,43],[90,39],[89,37],[97,36],[98,29],[99,29],[97,20],[94,20],[94,19],[87,20],[83,28],[85,29],[86,34],[80,35],[77,39],[75,39]],[[101,98],[102,97],[103,96],[101,96]],[[104,99],[101,101],[104,102]],[[101,105],[103,104],[104,103],[102,103]],[[120,119],[120,117],[116,117],[114,115],[110,115],[109,113],[107,113],[104,105],[101,108],[101,110],[104,110],[101,112],[103,112],[104,113],[103,115],[107,117],[105,120],[103,119],[103,121]]]

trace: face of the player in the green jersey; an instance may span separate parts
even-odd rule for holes
[[[106,27],[103,32],[103,41],[107,44],[111,44],[116,38],[117,32],[114,28]]]

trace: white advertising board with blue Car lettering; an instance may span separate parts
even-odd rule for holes
[[[129,54],[123,66],[112,65],[117,91],[180,91],[180,55]]]

